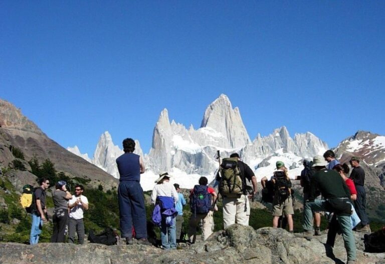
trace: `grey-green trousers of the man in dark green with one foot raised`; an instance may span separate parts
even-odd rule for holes
[[[307,201],[305,203],[303,214],[303,229],[313,230],[313,212],[326,211],[325,200]],[[347,253],[347,260],[355,260],[355,241],[351,230],[350,215],[336,214],[339,226],[341,227],[343,243]],[[331,223],[330,223],[331,224]]]

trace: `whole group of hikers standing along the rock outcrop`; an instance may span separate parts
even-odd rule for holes
[[[124,154],[116,159],[119,170],[118,203],[121,237],[126,244],[151,245],[147,238],[147,221],[143,190],[140,186],[140,174],[145,167],[142,158],[134,154],[135,142],[131,138],[123,140]],[[349,166],[340,164],[333,151],[328,150],[322,156],[313,160],[304,160],[300,182],[303,187],[303,232],[295,236],[311,239],[320,235],[320,212],[328,215],[327,245],[333,247],[337,232],[342,233],[347,251],[347,263],[355,262],[355,245],[352,229],[360,232],[370,232],[368,218],[365,212],[365,172],[359,166],[359,158],[351,157],[352,169],[350,177]],[[257,194],[257,180],[253,170],[243,161],[238,153],[224,158],[217,173],[216,188],[208,186],[208,179],[201,177],[197,185],[190,190],[189,218],[187,243],[196,241],[197,226],[202,224],[202,238],[206,240],[214,230],[213,214],[218,210],[218,195],[222,196],[224,228],[238,223],[249,225],[250,199]],[[177,240],[182,239],[183,205],[186,200],[178,184],[171,184],[172,175],[168,172],[159,174],[151,194],[151,203],[155,205],[152,212],[152,223],[160,227],[161,248],[174,249]],[[272,190],[273,227],[282,226],[286,221],[289,232],[293,232],[293,188],[284,162],[276,162],[276,170],[270,179],[262,178],[262,193]],[[41,186],[35,191],[37,210],[33,214],[31,229],[31,244],[39,239],[39,228],[46,221],[45,189],[49,181],[42,179]],[[74,242],[75,230],[79,243],[84,239],[83,211],[88,209],[87,198],[82,195],[83,186],[75,187],[75,195],[66,189],[66,182],[59,181],[53,193],[54,233],[52,242],[64,241],[64,228],[68,218],[69,240]],[[359,219],[358,219],[358,217]],[[358,219],[358,221],[357,221]],[[358,222],[361,226],[355,228]],[[71,223],[72,222],[72,223]],[[281,223],[280,223],[281,222]],[[313,222],[315,226],[313,228]],[[134,232],[133,232],[134,229]]]

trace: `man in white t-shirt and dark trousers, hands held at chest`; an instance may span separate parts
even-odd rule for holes
[[[68,225],[68,242],[75,243],[75,230],[78,234],[79,244],[84,243],[84,210],[88,210],[88,199],[83,195],[83,185],[75,186],[75,195],[69,200],[70,221]]]

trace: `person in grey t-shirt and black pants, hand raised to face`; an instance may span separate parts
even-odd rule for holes
[[[68,223],[68,200],[72,198],[71,193],[67,190],[67,182],[64,180],[56,183],[56,190],[52,193],[54,200],[54,231],[51,236],[51,243],[63,243],[64,231]]]

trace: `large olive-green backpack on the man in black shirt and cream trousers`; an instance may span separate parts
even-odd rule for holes
[[[238,158],[224,158],[220,167],[219,192],[225,197],[238,197],[244,194],[244,183]]]

